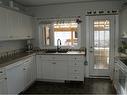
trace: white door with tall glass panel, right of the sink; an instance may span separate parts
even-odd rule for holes
[[[114,16],[89,17],[90,75],[109,76],[114,55]]]

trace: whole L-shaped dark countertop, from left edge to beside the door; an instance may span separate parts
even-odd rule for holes
[[[5,58],[1,58],[0,59],[0,68],[2,67],[6,67],[8,65],[11,65],[13,63],[16,63],[22,59],[28,58],[31,55],[84,55],[85,56],[85,52],[79,52],[79,51],[70,51],[67,53],[44,53],[42,51],[38,51],[38,52],[32,52],[32,53],[28,53],[28,52],[22,52],[22,53],[17,53],[14,56],[8,56]]]

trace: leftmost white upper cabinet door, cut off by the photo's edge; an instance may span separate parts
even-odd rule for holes
[[[8,11],[0,7],[0,40],[7,40],[8,33]]]

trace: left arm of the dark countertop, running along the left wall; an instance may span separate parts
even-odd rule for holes
[[[22,59],[28,58],[31,55],[35,55],[35,53],[28,53],[28,52],[22,52],[22,53],[17,53],[13,56],[8,56],[6,58],[1,58],[0,59],[0,68],[6,67],[8,65],[11,65],[17,61],[20,61]]]

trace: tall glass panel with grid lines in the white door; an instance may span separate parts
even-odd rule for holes
[[[110,21],[94,21],[94,69],[108,69]]]

